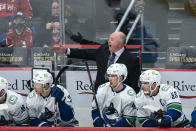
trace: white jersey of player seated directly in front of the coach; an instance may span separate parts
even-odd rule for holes
[[[136,94],[131,87],[125,84],[123,87],[120,92],[114,92],[110,83],[107,82],[98,88],[96,98],[106,126],[114,125],[122,117],[125,117],[130,125],[135,126]],[[92,103],[92,109],[96,109],[95,100]]]

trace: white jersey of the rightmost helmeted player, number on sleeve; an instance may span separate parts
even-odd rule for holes
[[[161,84],[158,94],[152,97],[145,96],[141,90],[136,96],[135,105],[138,109],[137,117],[141,126],[148,120],[151,113],[154,112],[154,109],[144,108],[146,105],[154,106],[165,112],[167,112],[168,109],[174,109],[181,112],[181,117],[172,122],[172,127],[179,126],[187,120],[182,112],[181,100],[177,90],[167,84]]]

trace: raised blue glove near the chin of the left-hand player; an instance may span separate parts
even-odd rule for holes
[[[51,96],[55,97],[58,102],[62,101],[64,92],[57,86],[51,87]]]

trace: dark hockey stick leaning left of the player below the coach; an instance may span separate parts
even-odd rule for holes
[[[97,98],[96,98],[95,89],[94,89],[94,86],[93,86],[93,81],[92,81],[92,78],[91,78],[91,73],[90,73],[90,70],[89,70],[88,62],[87,62],[87,61],[84,61],[84,62],[85,62],[86,69],[87,69],[87,72],[88,72],[88,78],[89,78],[90,84],[91,84],[91,86],[92,86],[93,98],[94,98],[94,100],[95,100],[95,104],[96,104],[96,107],[97,107],[97,110],[98,110],[98,115],[99,115],[99,118],[102,118],[102,117],[101,117],[101,113],[100,113],[100,109],[99,109],[99,105],[98,105],[98,101],[97,101]],[[105,123],[104,123],[104,124],[105,124]]]

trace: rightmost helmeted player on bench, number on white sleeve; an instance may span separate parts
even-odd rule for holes
[[[156,70],[146,70],[140,75],[140,92],[135,99],[137,117],[142,127],[186,127],[189,120],[182,111],[177,90],[161,84]]]

